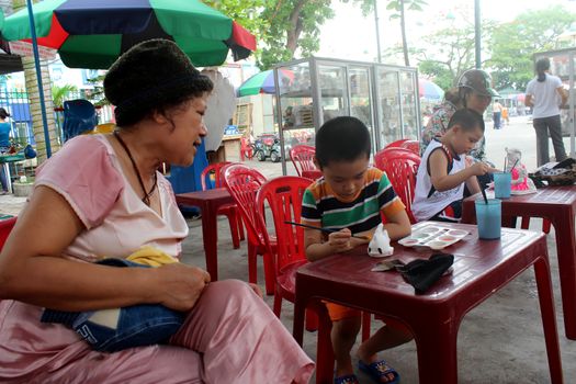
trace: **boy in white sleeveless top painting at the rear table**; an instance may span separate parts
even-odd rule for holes
[[[467,163],[466,154],[484,136],[484,120],[473,110],[456,111],[448,123],[448,132],[434,138],[422,155],[413,214],[418,222],[459,222],[462,215],[464,184],[471,194],[481,192],[476,177],[497,169],[478,161]]]

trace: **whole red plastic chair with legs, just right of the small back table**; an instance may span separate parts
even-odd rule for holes
[[[224,187],[234,197],[248,233],[248,281],[258,282],[257,255],[262,255],[264,262],[266,293],[274,292],[274,260],[264,244],[266,227],[261,227],[256,208],[256,194],[266,182],[262,173],[242,165],[229,165],[224,169]],[[272,251],[275,249],[275,238],[270,239]]]

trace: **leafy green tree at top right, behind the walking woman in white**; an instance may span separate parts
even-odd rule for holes
[[[488,43],[496,89],[513,88],[523,91],[534,76],[532,55],[557,48],[556,38],[576,20],[561,5],[527,11],[512,22],[496,26]]]

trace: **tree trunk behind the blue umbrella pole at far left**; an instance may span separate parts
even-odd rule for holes
[[[25,8],[25,0],[12,1],[14,12]],[[32,132],[36,140],[36,153],[38,166],[47,159],[46,154],[46,136],[44,135],[44,123],[42,121],[42,109],[39,104],[39,89],[36,77],[36,67],[34,57],[22,57],[22,66],[24,67],[24,78],[26,83],[26,92],[29,95],[30,114],[32,118]],[[44,89],[44,104],[46,108],[46,120],[48,122],[48,136],[50,140],[50,149],[54,155],[60,148],[60,140],[56,134],[56,123],[54,120],[54,104],[52,100],[52,80],[48,71],[47,63],[41,60],[42,86]]]

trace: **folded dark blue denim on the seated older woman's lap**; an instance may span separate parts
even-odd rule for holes
[[[148,268],[128,260],[105,259],[100,264],[113,267]],[[112,309],[114,310],[114,309]],[[174,335],[184,321],[185,314],[160,304],[139,304],[118,308],[117,324],[110,328],[90,318],[97,312],[64,312],[46,308],[42,323],[60,323],[72,328],[94,350],[115,352],[127,348],[162,343]]]

